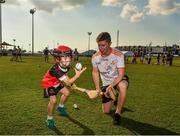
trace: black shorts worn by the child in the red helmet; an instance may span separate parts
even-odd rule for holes
[[[48,98],[49,96],[57,95],[57,93],[64,88],[63,84],[60,84],[57,87],[49,87],[44,88],[44,98]]]

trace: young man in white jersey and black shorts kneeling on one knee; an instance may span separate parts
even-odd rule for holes
[[[105,92],[102,96],[102,110],[109,113],[113,100],[108,98],[111,88],[117,88],[119,95],[117,98],[117,107],[114,114],[114,124],[119,125],[121,121],[121,112],[126,99],[128,88],[128,77],[125,75],[124,55],[117,49],[111,48],[111,36],[107,32],[102,32],[96,38],[99,51],[92,57],[92,76],[99,92]],[[103,87],[100,88],[99,80],[102,80]]]

